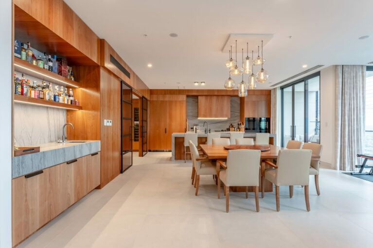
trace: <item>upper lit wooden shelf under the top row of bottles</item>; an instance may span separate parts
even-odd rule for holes
[[[46,82],[56,83],[65,87],[80,87],[80,83],[76,81],[72,81],[49,70],[30,64],[27,61],[21,60],[17,57],[14,58],[14,70],[35,78],[39,78]]]

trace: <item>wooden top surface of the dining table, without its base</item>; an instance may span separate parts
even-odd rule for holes
[[[206,157],[208,159],[226,159],[228,156],[228,150],[224,149],[227,145],[207,145],[207,144],[201,144],[199,145],[203,151],[203,153],[206,154]],[[279,150],[285,150],[286,148],[274,146],[274,145],[266,145],[269,146],[268,151],[262,151],[261,152],[261,159],[276,159]],[[245,146],[246,149],[250,149],[250,146]],[[255,149],[255,146],[252,146],[252,149]],[[312,159],[320,159],[320,156],[312,155]]]

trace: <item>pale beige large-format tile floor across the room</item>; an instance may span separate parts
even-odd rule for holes
[[[24,241],[19,248],[246,248],[373,247],[373,183],[320,171],[321,195],[310,178],[311,212],[301,187],[274,193],[217,198],[211,176],[201,177],[198,196],[191,163],[172,163],[170,152],[149,152],[102,190],[94,190]],[[223,193],[223,191],[221,191]]]

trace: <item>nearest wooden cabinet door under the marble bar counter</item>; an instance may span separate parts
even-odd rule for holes
[[[16,246],[51,220],[50,169],[12,180],[12,242]]]

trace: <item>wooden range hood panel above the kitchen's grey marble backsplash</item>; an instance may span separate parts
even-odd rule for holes
[[[198,118],[230,117],[230,96],[198,96]]]

